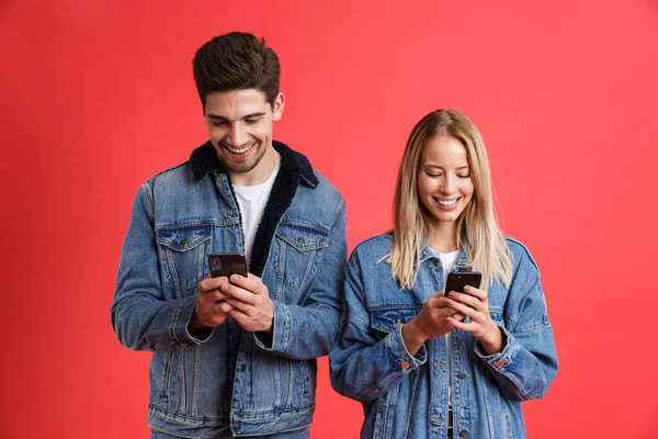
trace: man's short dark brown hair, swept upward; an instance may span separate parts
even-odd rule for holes
[[[279,57],[252,34],[215,36],[196,50],[192,70],[204,113],[206,95],[215,91],[257,89],[272,106],[279,95]]]

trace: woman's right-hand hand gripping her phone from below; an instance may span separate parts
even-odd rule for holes
[[[458,315],[449,316],[447,320],[455,328],[473,334],[483,345],[485,353],[490,356],[500,352],[503,348],[502,333],[491,320],[487,292],[468,285],[464,291],[465,293],[449,292],[446,305],[461,315],[470,317],[470,322],[462,322],[463,317],[455,318]]]

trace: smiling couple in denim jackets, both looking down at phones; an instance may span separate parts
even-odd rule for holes
[[[352,252],[345,204],[272,137],[276,54],[251,34],[193,60],[209,140],[145,182],[123,245],[112,324],[154,352],[151,438],[307,438],[316,358],[360,401],[362,438],[522,438],[520,403],[557,372],[537,267],[494,214],[487,153],[463,114],[411,131],[394,229]],[[209,254],[249,274],[211,278]],[[447,273],[480,288],[444,292]]]

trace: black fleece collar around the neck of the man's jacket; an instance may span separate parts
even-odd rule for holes
[[[318,178],[313,172],[313,167],[304,155],[277,140],[272,140],[272,146],[281,155],[281,168],[283,171],[299,176],[299,182],[309,188],[318,185]],[[213,170],[223,172],[222,164],[217,159],[217,153],[211,140],[192,151],[190,164],[192,165],[194,180],[197,182],[203,180]]]

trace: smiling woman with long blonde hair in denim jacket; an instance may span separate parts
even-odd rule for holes
[[[520,403],[557,372],[535,262],[496,224],[483,138],[439,110],[413,128],[395,193],[395,228],[347,268],[331,383],[365,412],[362,438],[525,437]],[[443,285],[481,272],[481,288]]]

